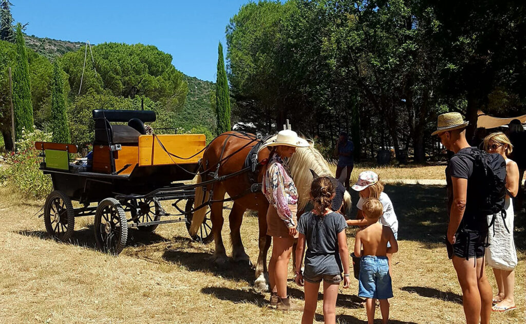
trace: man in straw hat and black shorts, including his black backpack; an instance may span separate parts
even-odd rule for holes
[[[484,269],[487,215],[496,215],[503,209],[505,161],[470,147],[466,140],[467,125],[459,113],[442,114],[432,135],[438,135],[442,144],[454,153],[446,168],[449,214],[446,245],[462,288],[466,321],[488,324],[493,295]]]

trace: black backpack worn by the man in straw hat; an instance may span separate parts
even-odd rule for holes
[[[493,215],[491,227],[498,214],[506,218],[504,204],[506,200],[506,161],[497,153],[489,154],[479,149],[470,153],[459,153],[473,161],[473,174],[469,178],[470,209],[476,212],[481,221],[487,221],[487,215]],[[482,219],[483,218],[483,219]],[[506,223],[504,221],[504,227]],[[509,232],[509,229],[506,227]]]

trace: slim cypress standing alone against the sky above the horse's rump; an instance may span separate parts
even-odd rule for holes
[[[228,94],[227,72],[223,58],[223,46],[219,42],[217,58],[217,80],[216,80],[216,116],[217,133],[229,131],[230,126],[230,96]]]

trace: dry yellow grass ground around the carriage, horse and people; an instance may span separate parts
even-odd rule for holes
[[[442,244],[447,221],[444,189],[388,185],[386,192],[400,222],[391,323],[463,323],[461,290]],[[93,217],[76,219],[74,244],[50,239],[43,219],[35,215],[43,203],[0,188],[0,323],[290,324],[301,319],[300,312],[268,308],[269,294],[251,287],[254,272],[249,266],[216,268],[213,244],[190,241],[184,224],[161,225],[147,235],[130,230],[128,247],[114,257],[94,248]],[[250,215],[245,215],[241,236],[255,260],[257,218]],[[493,314],[492,323],[524,321],[526,222],[524,215],[516,219],[518,310]],[[226,218],[226,241],[228,232]],[[348,229],[350,247],[353,234]],[[491,271],[489,277],[496,288]],[[352,280],[350,289],[341,289],[337,319],[366,323],[358,282]],[[292,281],[289,293],[302,303],[302,290]],[[316,320],[322,322],[321,302]]]

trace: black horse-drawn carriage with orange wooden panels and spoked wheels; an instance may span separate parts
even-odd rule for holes
[[[189,227],[197,186],[181,181],[195,177],[205,135],[148,135],[144,123],[156,119],[148,110],[94,110],[93,119],[95,141],[87,158],[72,159],[78,150],[72,144],[35,143],[42,151],[40,169],[51,176],[54,189],[44,206],[47,232],[69,240],[76,217],[95,215],[97,246],[118,254],[130,227],[153,231],[171,222]],[[161,205],[166,200],[173,201],[174,214]],[[211,239],[211,224],[205,219],[202,225],[193,239]]]

